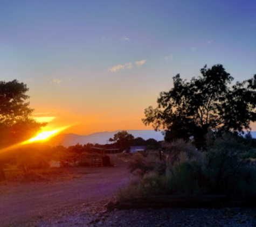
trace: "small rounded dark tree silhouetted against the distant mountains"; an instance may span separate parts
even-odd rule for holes
[[[114,138],[110,138],[109,141],[115,142],[119,146],[120,150],[129,150],[134,136],[127,131],[120,131],[114,134]]]

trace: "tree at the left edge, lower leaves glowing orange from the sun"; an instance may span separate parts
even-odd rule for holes
[[[29,139],[46,125],[31,118],[33,109],[26,102],[28,90],[26,84],[17,80],[0,81],[0,148]],[[0,180],[4,178],[3,164],[9,158],[0,153]]]

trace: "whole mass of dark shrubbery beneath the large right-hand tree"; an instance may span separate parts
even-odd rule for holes
[[[140,177],[128,186],[129,196],[155,194],[248,195],[256,194],[253,150],[233,137],[207,137],[207,150],[177,140],[163,144],[165,156],[134,154],[130,172]],[[120,197],[125,198],[125,191]]]

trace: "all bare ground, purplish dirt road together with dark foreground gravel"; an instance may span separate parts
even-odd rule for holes
[[[105,204],[115,202],[116,190],[129,181],[126,166],[122,162],[116,164],[115,168],[89,169],[89,174],[52,185],[0,186],[0,227],[256,226],[255,208],[106,212]]]

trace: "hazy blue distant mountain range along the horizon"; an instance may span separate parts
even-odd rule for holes
[[[58,134],[57,136],[53,137],[50,141],[49,144],[52,146],[57,146],[57,145],[63,145],[65,147],[72,146],[75,144],[107,144],[109,143],[109,139],[114,137],[114,134],[117,132],[122,131],[122,130],[117,130],[114,132],[96,132],[93,134],[89,134],[86,136],[81,136],[78,134]],[[161,131],[154,131],[154,130],[126,130],[128,133],[133,134],[133,136],[136,137],[141,137],[144,140],[147,139],[155,139],[157,141],[161,141],[164,139],[164,136]]]

